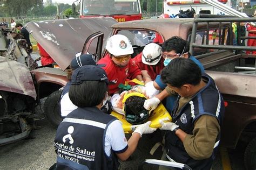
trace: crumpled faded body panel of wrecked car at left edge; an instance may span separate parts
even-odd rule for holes
[[[0,90],[28,95],[36,100],[32,76],[25,65],[0,56],[0,73]]]

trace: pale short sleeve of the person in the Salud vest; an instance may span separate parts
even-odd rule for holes
[[[113,121],[107,126],[105,136],[105,152],[110,156],[111,148],[113,151],[122,151],[127,146],[127,140],[124,135],[122,122],[119,120]],[[123,151],[124,152],[124,151]],[[119,152],[119,153],[123,153]]]

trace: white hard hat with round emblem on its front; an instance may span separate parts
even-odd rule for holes
[[[115,56],[133,53],[131,41],[121,34],[116,34],[107,40],[106,50]]]

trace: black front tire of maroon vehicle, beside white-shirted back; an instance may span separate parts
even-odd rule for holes
[[[62,90],[54,91],[46,98],[46,101],[44,103],[44,114],[49,122],[56,128],[58,127],[60,122],[62,122],[60,105],[58,103],[61,94]]]

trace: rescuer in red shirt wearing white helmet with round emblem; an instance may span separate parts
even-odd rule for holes
[[[106,43],[107,55],[98,61],[98,64],[104,64],[102,67],[109,79],[109,94],[119,92],[118,85],[125,83],[128,75],[131,79],[138,79],[143,81],[142,72],[137,65],[132,63],[131,54],[133,48],[131,41],[121,35],[117,34],[110,37]]]

